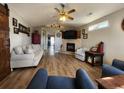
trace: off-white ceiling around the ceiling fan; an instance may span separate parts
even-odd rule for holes
[[[23,18],[23,20],[34,27],[55,23],[57,18],[53,16],[56,16],[57,13],[54,8],[60,8],[58,3],[10,3],[8,5],[14,8],[14,10]],[[69,26],[81,26],[124,8],[124,4],[119,3],[68,3],[65,5],[67,10],[72,8],[76,9],[76,12],[71,14],[71,16],[74,17],[74,20],[67,20],[63,23]],[[88,16],[88,13],[90,12],[92,12],[93,15]]]

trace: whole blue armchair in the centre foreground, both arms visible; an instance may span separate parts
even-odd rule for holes
[[[79,69],[76,78],[48,76],[45,69],[39,69],[27,89],[96,89],[87,72]]]

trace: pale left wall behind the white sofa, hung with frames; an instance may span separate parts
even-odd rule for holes
[[[31,43],[31,36],[27,36],[27,34],[19,33],[15,34],[13,31],[13,24],[12,24],[12,18],[16,18],[18,20],[18,23],[21,23],[27,27],[30,25],[27,24],[23,18],[18,14],[17,11],[13,9],[13,7],[9,6],[10,9],[10,15],[9,15],[9,27],[10,27],[10,51],[13,49],[13,47],[19,46],[19,45],[26,45]]]

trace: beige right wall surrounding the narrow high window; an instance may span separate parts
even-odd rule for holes
[[[105,44],[105,63],[112,63],[114,58],[124,60],[124,31],[121,29],[121,22],[124,18],[124,9],[100,18],[90,24],[85,25],[86,31],[89,25],[108,20],[109,28],[88,32],[88,39],[82,39],[83,47],[91,47],[100,41]]]

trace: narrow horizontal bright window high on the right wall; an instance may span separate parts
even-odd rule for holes
[[[88,31],[94,31],[94,30],[98,30],[106,27],[109,27],[108,20],[89,26]]]

